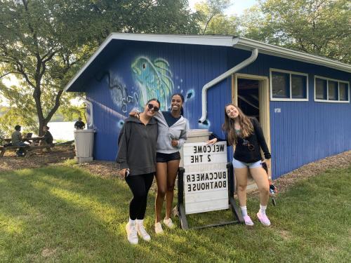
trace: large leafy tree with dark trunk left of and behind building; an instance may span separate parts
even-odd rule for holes
[[[197,32],[186,7],[185,0],[0,1],[0,79],[20,80],[0,89],[11,114],[37,117],[41,135],[60,105],[69,105],[66,83],[110,32]]]

